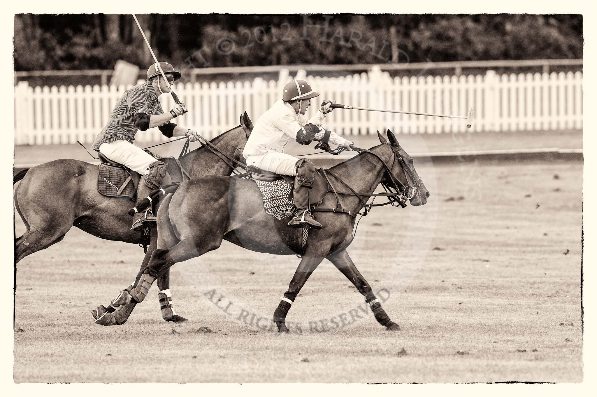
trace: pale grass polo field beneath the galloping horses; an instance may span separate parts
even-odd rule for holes
[[[127,324],[101,327],[90,311],[133,280],[143,252],[73,228],[17,267],[14,381],[581,382],[582,166],[417,167],[427,205],[374,210],[349,248],[394,333],[327,261],[291,333],[271,332],[298,260],[226,242],[172,268],[188,323],[161,319],[154,286]]]

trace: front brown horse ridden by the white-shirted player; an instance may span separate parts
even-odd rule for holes
[[[363,210],[370,196],[376,195],[374,190],[380,183],[393,185],[390,187],[395,187],[396,193],[389,194],[404,205],[406,199],[411,205],[423,205],[429,198],[429,191],[414,169],[413,159],[398,144],[393,133],[387,132],[389,142],[379,133],[378,136],[381,145],[370,150],[357,149],[361,153],[327,170],[333,177],[328,179],[328,192],[317,208],[321,211],[322,208],[337,207],[338,196],[341,196],[346,212],[317,212],[317,220],[324,227],[310,230],[310,243],[273,314],[279,332],[288,331],[285,324],[288,310],[324,258],[365,296],[365,302],[382,326],[387,330],[400,329],[381,308],[370,285],[346,251],[352,242],[355,225],[355,217],[349,211],[355,214]],[[143,301],[153,280],[174,263],[217,249],[223,239],[251,251],[281,255],[301,252],[301,229],[292,229],[285,220],[267,215],[259,188],[252,180],[207,176],[173,185],[166,192],[174,194],[167,195],[159,207],[158,248],[153,251],[139,282],[124,299],[129,302],[121,306],[127,308],[123,310],[125,315],[130,314],[131,305],[134,307]],[[157,195],[156,192],[153,194]]]

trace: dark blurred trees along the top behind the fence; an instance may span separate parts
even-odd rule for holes
[[[137,15],[177,67],[582,58],[582,15]],[[305,19],[306,18],[306,19]],[[327,29],[306,25],[324,26]],[[327,33],[327,34],[326,34]],[[15,70],[152,62],[131,15],[19,14]]]

